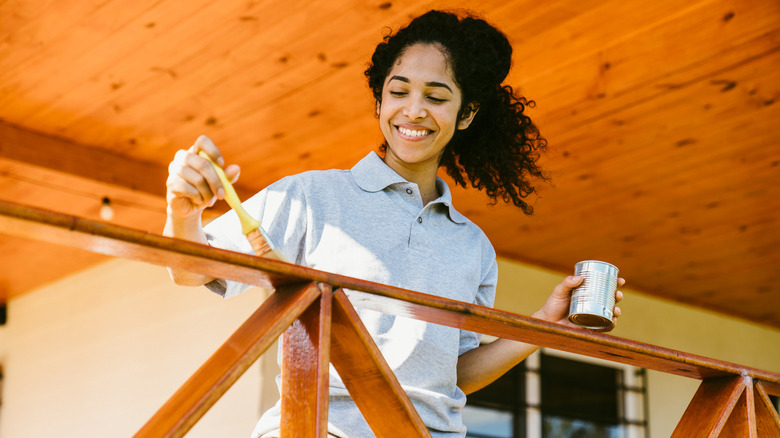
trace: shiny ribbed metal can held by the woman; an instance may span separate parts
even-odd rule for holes
[[[574,288],[569,304],[569,321],[589,329],[612,326],[618,268],[607,262],[585,260],[574,266],[582,283]]]

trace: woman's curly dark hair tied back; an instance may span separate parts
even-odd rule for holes
[[[525,198],[536,190],[532,179],[548,177],[538,165],[547,141],[524,114],[534,101],[502,82],[512,64],[506,35],[467,12],[429,11],[395,34],[385,36],[374,51],[365,75],[377,103],[396,60],[406,48],[422,43],[439,47],[450,63],[463,95],[459,118],[479,105],[468,129],[457,130],[444,149],[440,166],[455,183],[485,190],[493,203],[500,198],[532,214]],[[386,150],[387,144],[382,145]]]

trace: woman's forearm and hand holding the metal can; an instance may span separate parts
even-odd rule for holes
[[[569,299],[571,290],[582,282],[582,277],[566,277],[554,289],[541,309],[531,317],[558,324],[572,325],[568,320]],[[618,286],[625,280],[618,279]],[[615,302],[623,299],[623,293],[615,292]],[[620,316],[620,308],[615,307],[612,327],[615,327]],[[522,362],[531,353],[538,350],[536,345],[509,339],[497,339],[490,344],[479,346],[462,354],[458,359],[458,386],[466,394],[470,394],[489,385],[504,373]]]

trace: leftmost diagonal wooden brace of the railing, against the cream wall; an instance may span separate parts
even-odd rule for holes
[[[279,288],[135,434],[181,437],[317,297],[316,283]]]

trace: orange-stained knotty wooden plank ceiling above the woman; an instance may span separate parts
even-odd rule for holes
[[[550,144],[533,216],[456,191],[501,256],[610,261],[780,328],[775,0],[0,1],[0,199],[97,219],[109,197],[159,233],[167,163],[200,134],[244,195],[349,168],[381,138],[362,72],[385,27],[450,7],[508,34]],[[2,235],[0,300],[101,260]]]

